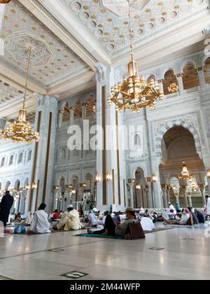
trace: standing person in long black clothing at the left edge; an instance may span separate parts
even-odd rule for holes
[[[9,191],[6,191],[0,203],[0,221],[3,222],[4,227],[6,227],[6,223],[8,222],[8,217],[10,215],[10,209],[13,206],[13,202],[13,196],[10,195]]]

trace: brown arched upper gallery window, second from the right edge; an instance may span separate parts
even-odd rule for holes
[[[186,64],[186,66],[183,69],[182,80],[184,90],[188,90],[191,87],[197,87],[200,85],[197,69],[195,69],[194,64]]]

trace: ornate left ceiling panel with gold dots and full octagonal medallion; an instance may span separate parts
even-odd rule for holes
[[[6,5],[1,38],[5,50],[0,65],[24,75],[31,46],[30,78],[45,87],[88,67],[18,1]]]

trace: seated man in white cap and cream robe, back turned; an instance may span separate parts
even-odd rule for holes
[[[61,220],[55,225],[52,232],[53,230],[71,231],[83,228],[83,225],[80,223],[79,213],[76,209],[73,209],[72,204],[67,207],[67,211],[62,214]]]

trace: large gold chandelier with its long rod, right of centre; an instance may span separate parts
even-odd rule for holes
[[[122,112],[130,109],[132,112],[139,112],[144,106],[153,109],[157,104],[157,99],[162,100],[164,94],[159,89],[158,81],[153,79],[146,81],[144,77],[139,77],[138,64],[134,61],[134,52],[132,45],[133,29],[131,25],[130,1],[127,0],[129,6],[130,17],[130,48],[131,61],[128,64],[128,77],[125,77],[123,83],[111,87],[111,94],[108,97],[109,105],[116,104],[116,111]]]

